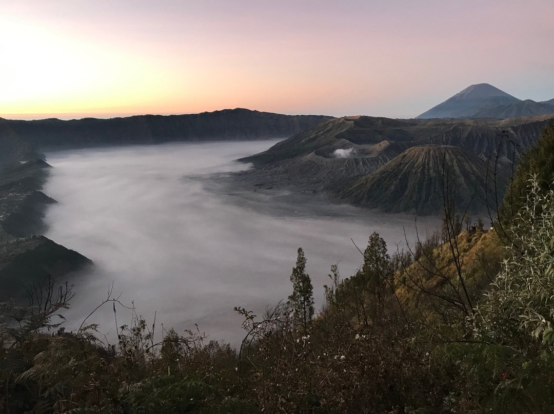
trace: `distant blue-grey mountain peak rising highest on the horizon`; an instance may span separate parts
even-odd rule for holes
[[[517,102],[520,100],[493,85],[475,84],[466,87],[442,104],[423,112],[417,118],[470,118],[479,111]]]

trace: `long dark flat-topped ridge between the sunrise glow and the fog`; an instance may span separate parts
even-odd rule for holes
[[[61,121],[3,120],[0,139],[10,134],[33,148],[75,148],[114,144],[266,139],[290,137],[331,117],[280,115],[237,108],[191,115],[139,115]]]

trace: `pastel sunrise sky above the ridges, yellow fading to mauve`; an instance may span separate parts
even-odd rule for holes
[[[410,118],[554,98],[554,1],[0,0],[0,117],[224,108]]]

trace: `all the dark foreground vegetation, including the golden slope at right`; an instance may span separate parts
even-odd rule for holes
[[[443,175],[442,228],[393,255],[372,234],[354,275],[331,266],[319,312],[299,249],[288,302],[261,316],[235,308],[239,350],[138,315],[116,344],[86,320],[66,333],[57,315],[71,287],[35,284],[29,306],[2,304],[0,410],[551,413],[553,145],[547,128],[491,230],[456,208]],[[117,298],[103,306],[117,319]]]

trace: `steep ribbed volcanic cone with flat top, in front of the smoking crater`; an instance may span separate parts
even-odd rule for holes
[[[337,190],[342,202],[391,213],[439,213],[443,209],[443,179],[456,190],[460,204],[484,198],[486,163],[458,147],[417,146],[404,151],[375,172]]]

